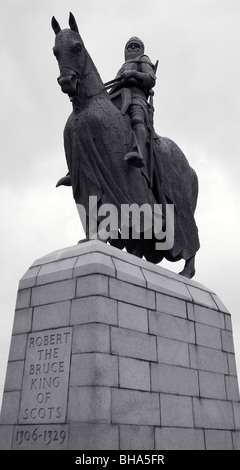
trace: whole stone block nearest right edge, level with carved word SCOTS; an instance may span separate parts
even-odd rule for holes
[[[231,402],[193,398],[194,422],[198,428],[234,429]]]

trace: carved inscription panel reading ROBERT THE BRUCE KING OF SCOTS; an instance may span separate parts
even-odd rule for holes
[[[19,423],[65,422],[71,342],[70,327],[28,335]]]

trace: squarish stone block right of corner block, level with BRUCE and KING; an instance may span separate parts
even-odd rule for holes
[[[119,357],[120,387],[150,390],[149,362]]]

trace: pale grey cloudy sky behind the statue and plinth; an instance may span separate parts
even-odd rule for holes
[[[71,190],[55,189],[66,172],[62,132],[71,105],[56,82],[50,21],[55,15],[68,27],[69,11],[103,81],[116,75],[130,36],[159,60],[155,128],[198,173],[195,279],[232,314],[240,374],[239,0],[9,0],[0,20],[0,390],[19,278],[36,258],[82,236]]]

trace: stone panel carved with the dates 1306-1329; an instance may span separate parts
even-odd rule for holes
[[[13,450],[66,450],[68,424],[16,426]]]

